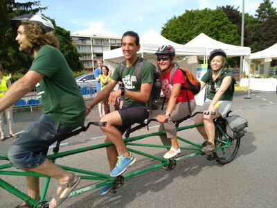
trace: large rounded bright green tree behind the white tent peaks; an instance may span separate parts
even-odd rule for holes
[[[179,44],[186,44],[200,33],[227,44],[240,44],[238,27],[222,10],[186,10],[169,19],[161,30],[161,35]]]

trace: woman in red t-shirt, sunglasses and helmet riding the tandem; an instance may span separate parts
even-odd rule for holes
[[[190,110],[193,112],[196,104],[193,93],[188,90],[186,78],[179,69],[173,75],[173,83],[170,83],[170,73],[174,67],[175,49],[170,45],[161,46],[155,54],[157,55],[157,65],[162,73],[161,89],[168,98],[166,112],[157,116],[157,121],[161,123],[159,131],[166,130],[166,135],[161,135],[160,138],[163,145],[171,146],[168,153],[163,155],[165,159],[169,159],[181,153],[174,122],[188,116]],[[165,123],[166,119],[168,119],[168,123]]]

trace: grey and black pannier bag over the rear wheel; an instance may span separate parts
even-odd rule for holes
[[[248,126],[247,119],[240,116],[229,116],[223,118],[226,121],[226,135],[232,139],[240,139],[244,136],[246,128]]]

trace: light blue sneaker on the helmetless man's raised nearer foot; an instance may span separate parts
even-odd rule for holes
[[[111,177],[116,177],[120,174],[122,174],[127,166],[132,165],[135,161],[136,158],[134,158],[134,155],[132,155],[132,153],[130,153],[129,157],[125,157],[124,155],[119,155],[116,163],[116,166],[114,167],[114,169],[111,171]]]

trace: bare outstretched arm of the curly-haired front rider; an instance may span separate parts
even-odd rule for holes
[[[0,98],[0,112],[12,106],[21,97],[30,92],[31,89],[44,77],[37,71],[28,71],[26,75],[13,83],[8,91]]]

